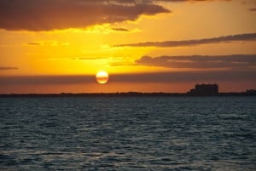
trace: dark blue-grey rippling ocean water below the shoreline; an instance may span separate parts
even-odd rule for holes
[[[255,97],[0,98],[0,170],[256,170]]]

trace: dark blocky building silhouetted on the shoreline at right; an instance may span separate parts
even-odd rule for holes
[[[218,95],[218,84],[196,84],[188,94],[192,95]]]

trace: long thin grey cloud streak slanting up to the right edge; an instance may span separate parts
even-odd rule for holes
[[[118,44],[114,45],[115,47],[160,47],[160,48],[169,48],[169,47],[183,47],[183,46],[195,46],[200,44],[207,43],[229,43],[237,41],[255,41],[256,33],[245,33],[230,35],[224,37],[212,37],[212,38],[203,38],[203,39],[193,39],[193,40],[182,40],[182,41],[164,41],[164,42],[145,42],[145,43],[129,43],[129,44]]]

